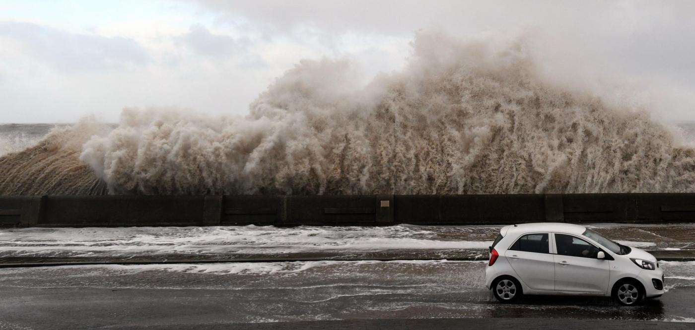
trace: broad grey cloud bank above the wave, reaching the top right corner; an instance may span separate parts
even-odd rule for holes
[[[345,31],[409,36],[436,28],[465,36],[521,28],[534,31],[543,50],[564,52],[561,56],[569,60],[613,61],[631,72],[658,71],[695,81],[695,46],[689,41],[695,1],[185,1],[198,3],[222,22],[247,19],[273,35],[296,33],[299,42],[302,28],[327,38]]]

